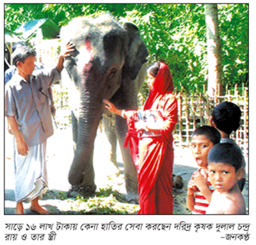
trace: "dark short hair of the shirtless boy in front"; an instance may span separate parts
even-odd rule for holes
[[[220,143],[212,146],[207,156],[208,162],[221,162],[234,166],[239,170],[243,167],[243,154],[241,150],[232,143]]]

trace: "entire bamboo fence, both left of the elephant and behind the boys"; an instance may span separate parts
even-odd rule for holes
[[[60,84],[52,87],[54,105],[57,109],[54,123],[59,128],[69,127],[71,120],[68,89],[62,88]],[[202,125],[210,125],[213,107],[220,102],[230,101],[237,104],[242,112],[240,127],[236,133],[232,133],[231,138],[241,147],[244,156],[248,156],[248,88],[243,88],[243,94],[239,93],[236,87],[234,93],[227,90],[224,96],[209,97],[206,93],[204,95],[178,93],[176,97],[179,107],[179,120],[173,132],[176,147],[189,146],[193,131]]]

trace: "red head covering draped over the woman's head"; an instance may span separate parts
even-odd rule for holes
[[[149,92],[148,99],[146,100],[143,109],[150,109],[154,101],[156,101],[157,97],[166,93],[172,93],[172,91],[173,81],[170,69],[168,65],[160,62],[160,67],[157,72],[153,88]]]

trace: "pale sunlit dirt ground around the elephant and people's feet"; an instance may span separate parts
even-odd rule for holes
[[[5,214],[15,213],[14,199],[14,178],[13,178],[13,138],[5,131],[5,150],[4,150],[4,210]],[[118,193],[125,194],[124,186],[124,164],[120,151],[117,154],[117,169],[113,164],[109,163],[107,153],[104,151],[103,139],[98,137],[95,141],[95,182],[97,189],[111,187]],[[61,200],[60,193],[65,193],[70,188],[67,175],[70,163],[73,158],[72,150],[72,132],[71,128],[57,129],[54,136],[47,141],[47,170],[49,179],[48,197],[40,200],[41,205],[51,207],[52,214],[65,214],[72,209],[72,205],[67,200]],[[189,148],[175,148],[175,160],[173,164],[173,174],[180,175],[184,186],[182,189],[173,188],[174,196],[174,214],[190,214],[186,207],[186,193],[188,182],[193,171],[196,170],[196,164]],[[116,173],[119,173],[118,175]],[[248,173],[248,172],[247,172]],[[248,175],[246,175],[246,185],[243,190],[244,200],[248,207]],[[53,196],[52,196],[53,195]],[[47,195],[46,195],[47,196]],[[29,203],[24,203],[25,214],[33,214],[28,210]],[[134,206],[133,206],[134,207]],[[138,209],[138,205],[136,206]]]

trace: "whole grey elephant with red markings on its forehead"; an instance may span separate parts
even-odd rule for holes
[[[76,143],[68,181],[86,195],[95,190],[93,145],[104,111],[103,99],[120,109],[137,109],[137,95],[146,74],[147,49],[134,24],[120,26],[108,14],[78,17],[61,29],[63,43],[76,51],[64,63],[69,78],[73,139]],[[129,148],[124,148],[127,123],[115,118],[116,138],[124,161],[127,200],[138,200],[138,179]]]

